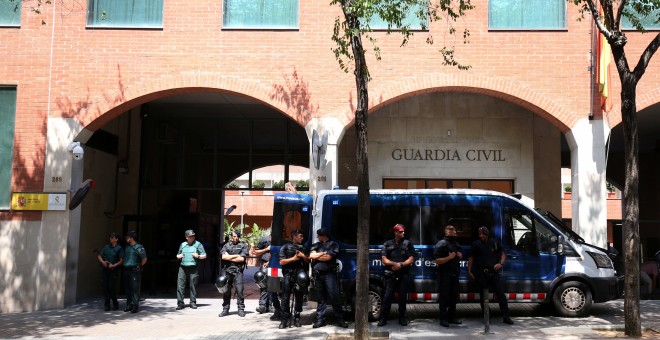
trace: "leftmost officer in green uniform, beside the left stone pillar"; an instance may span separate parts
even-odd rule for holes
[[[101,252],[98,254],[97,259],[103,266],[103,297],[105,298],[105,311],[110,310],[110,301],[112,301],[112,310],[119,309],[119,302],[117,302],[117,272],[119,267],[124,263],[124,248],[119,242],[119,234],[110,233],[108,235],[110,243],[103,246]]]

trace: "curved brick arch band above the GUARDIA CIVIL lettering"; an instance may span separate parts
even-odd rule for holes
[[[435,74],[385,83],[374,88],[370,94],[373,104],[369,112],[401,99],[432,92],[468,92],[501,98],[534,112],[556,126],[562,133],[569,131],[581,118],[553,101],[550,96],[530,87],[521,86],[518,82],[470,74],[460,76]],[[346,125],[353,123],[353,112],[345,113],[343,117]]]

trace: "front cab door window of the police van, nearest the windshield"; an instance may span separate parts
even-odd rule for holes
[[[527,254],[555,254],[557,235],[530,212],[505,209],[507,244]]]

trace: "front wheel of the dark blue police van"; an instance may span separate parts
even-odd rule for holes
[[[591,310],[593,299],[591,291],[582,282],[562,283],[552,296],[555,311],[564,317],[585,316]]]

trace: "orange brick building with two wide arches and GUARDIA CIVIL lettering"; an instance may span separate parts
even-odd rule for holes
[[[18,12],[15,3],[0,0],[2,131],[13,136],[0,149],[0,311],[99,294],[95,251],[111,231],[139,231],[153,268],[145,290],[158,289],[183,230],[214,248],[224,187],[252,169],[283,164],[288,178],[288,165],[307,167],[312,192],[355,185],[354,78],[331,52],[339,8],[58,0],[35,14],[33,2]],[[560,215],[560,169],[571,167],[572,225],[604,246],[605,182],[623,183],[623,150],[618,95],[609,112],[597,104],[594,27],[566,1],[546,1],[531,21],[495,6],[507,3],[473,1],[457,23],[469,44],[443,23],[403,48],[396,34],[372,34],[382,60],[368,58],[370,185],[516,191]],[[631,63],[653,34],[629,32]],[[442,65],[438,50],[454,44],[469,70]],[[659,84],[656,56],[637,91],[648,247],[660,246]],[[325,158],[312,157],[314,135],[326,133]],[[73,141],[84,158],[73,157]],[[83,179],[95,186],[75,210],[10,201],[70,198]]]

